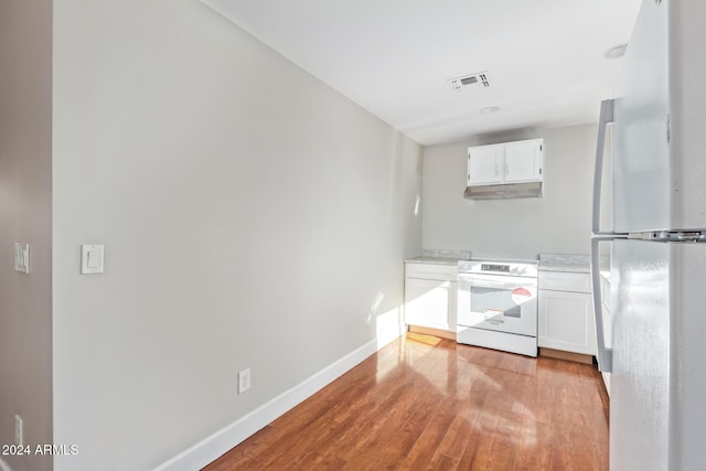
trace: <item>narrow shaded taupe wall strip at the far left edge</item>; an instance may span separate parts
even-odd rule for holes
[[[0,2],[0,445],[52,442],[51,104],[52,2]],[[30,274],[14,271],[15,242]],[[51,470],[51,457],[0,454],[14,471]]]

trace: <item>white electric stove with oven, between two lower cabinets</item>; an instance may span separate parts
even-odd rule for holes
[[[456,340],[537,356],[537,265],[536,260],[460,260]]]

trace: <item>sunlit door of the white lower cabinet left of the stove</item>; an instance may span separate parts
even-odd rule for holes
[[[456,282],[405,279],[405,323],[456,331]]]

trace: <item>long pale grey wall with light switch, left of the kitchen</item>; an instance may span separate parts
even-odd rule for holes
[[[402,304],[409,139],[192,0],[56,1],[54,73],[57,470],[152,468]]]

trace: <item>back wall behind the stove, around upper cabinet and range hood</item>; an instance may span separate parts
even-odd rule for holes
[[[425,148],[424,247],[481,257],[588,254],[596,136],[595,125],[582,125]],[[539,137],[545,140],[542,199],[463,199],[468,147]]]

